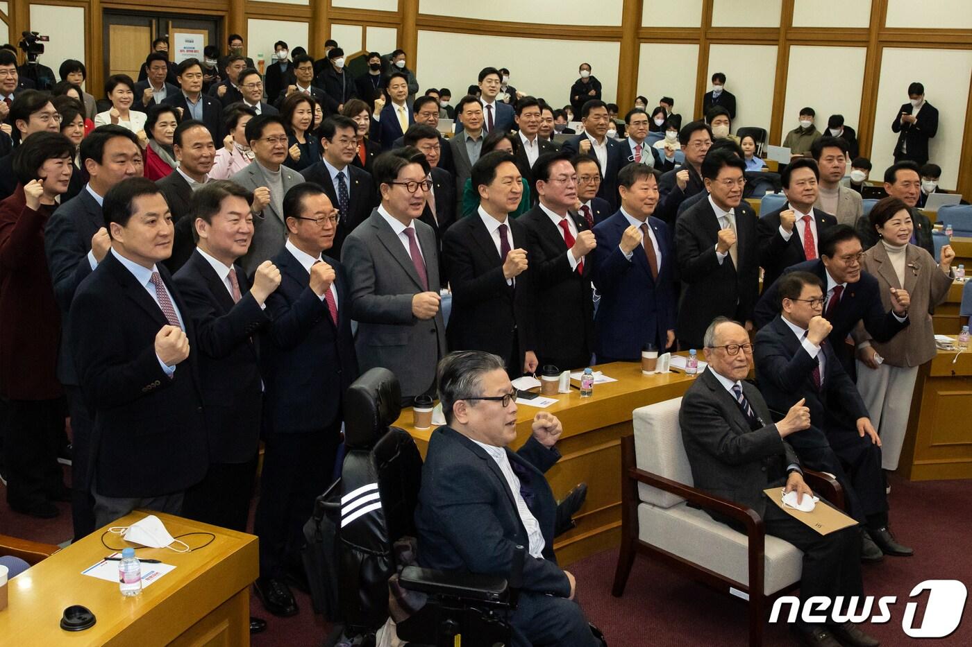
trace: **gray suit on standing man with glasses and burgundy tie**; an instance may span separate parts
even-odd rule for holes
[[[425,257],[429,289],[438,293],[435,232],[415,222]],[[344,240],[341,263],[350,283],[351,317],[358,322],[355,349],[362,372],[383,366],[399,378],[401,395],[411,398],[434,387],[435,364],[445,355],[445,323],[412,314],[412,297],[426,291],[399,236],[378,210]]]

